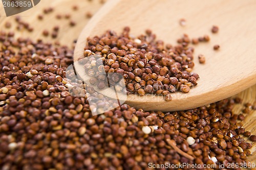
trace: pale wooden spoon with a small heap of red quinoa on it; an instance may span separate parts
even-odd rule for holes
[[[166,102],[162,96],[128,95],[126,103],[144,110],[173,111],[203,106],[228,98],[256,83],[256,2],[248,1],[137,1],[112,0],[107,2],[81,32],[74,61],[83,56],[86,38],[102,35],[106,30],[120,33],[125,26],[134,36],[151,29],[158,39],[176,44],[184,33],[198,38],[205,34],[210,42],[195,46],[194,72],[200,76],[198,85],[188,93],[173,93]],[[184,18],[186,26],[179,20]],[[217,34],[211,33],[216,25]],[[213,50],[220,45],[218,51]],[[206,56],[199,64],[198,55]],[[75,64],[78,74],[81,65]]]

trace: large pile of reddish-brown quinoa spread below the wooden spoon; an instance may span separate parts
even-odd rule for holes
[[[136,110],[123,104],[92,116],[87,97],[72,96],[66,86],[65,70],[73,62],[73,49],[27,38],[15,39],[5,32],[0,33],[0,41],[1,169],[150,169],[149,163],[216,164],[219,169],[220,164],[249,164],[246,158],[252,145],[245,137],[255,141],[256,136],[246,131],[240,120],[255,109],[253,105],[246,104],[243,114],[237,115],[232,108],[241,103],[239,99],[165,113]],[[156,43],[148,42],[151,43],[152,51],[159,53]],[[107,50],[105,54],[123,53]],[[155,65],[161,63],[162,58],[157,60],[157,55],[153,56]],[[173,60],[176,66],[181,66]],[[186,80],[195,77],[187,75]],[[126,80],[131,81],[130,77]],[[178,82],[181,83],[179,79]],[[85,90],[89,89],[92,90],[87,85]],[[91,93],[104,98],[95,91]]]

